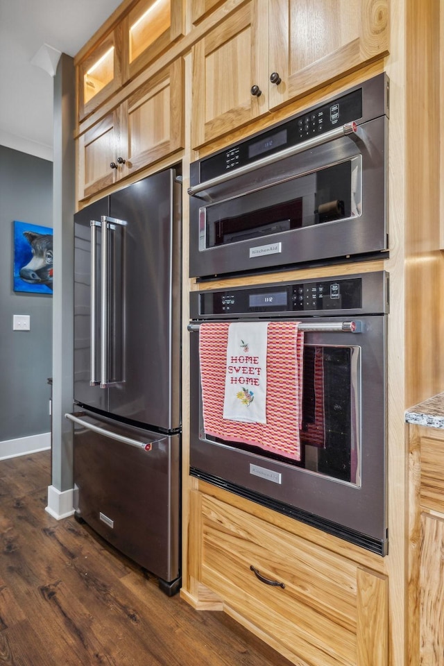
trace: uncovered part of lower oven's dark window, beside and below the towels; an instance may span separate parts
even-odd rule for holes
[[[361,348],[306,344],[300,461],[275,455],[259,447],[228,441],[223,443],[360,486],[360,386]],[[202,415],[200,423],[200,432],[203,432]],[[208,435],[205,438],[221,441]]]

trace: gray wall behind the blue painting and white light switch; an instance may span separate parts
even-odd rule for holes
[[[0,146],[0,441],[49,432],[52,305],[46,294],[13,291],[14,221],[52,226],[53,164]],[[12,315],[31,330],[12,331]]]

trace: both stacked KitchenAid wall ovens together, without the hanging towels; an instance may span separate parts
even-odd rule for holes
[[[191,475],[381,555],[388,274],[276,273],[388,252],[387,119],[381,74],[192,164],[189,188],[190,275],[203,282],[190,294]],[[236,287],[208,284],[246,275]],[[205,425],[202,327],[207,336],[223,323],[269,332],[282,322],[303,334],[297,456]]]

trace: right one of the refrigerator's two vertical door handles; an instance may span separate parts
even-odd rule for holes
[[[110,309],[110,293],[108,278],[108,230],[115,229],[116,225],[126,226],[126,221],[118,220],[107,215],[101,216],[102,225],[102,284],[101,284],[101,359],[100,359],[100,387],[108,388],[110,379],[108,377],[109,367],[109,334],[108,316]],[[116,382],[112,382],[114,385]]]

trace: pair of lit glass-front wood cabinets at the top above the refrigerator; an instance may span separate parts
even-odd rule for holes
[[[182,35],[182,0],[139,0],[78,63],[78,119],[82,121],[119,87]]]

